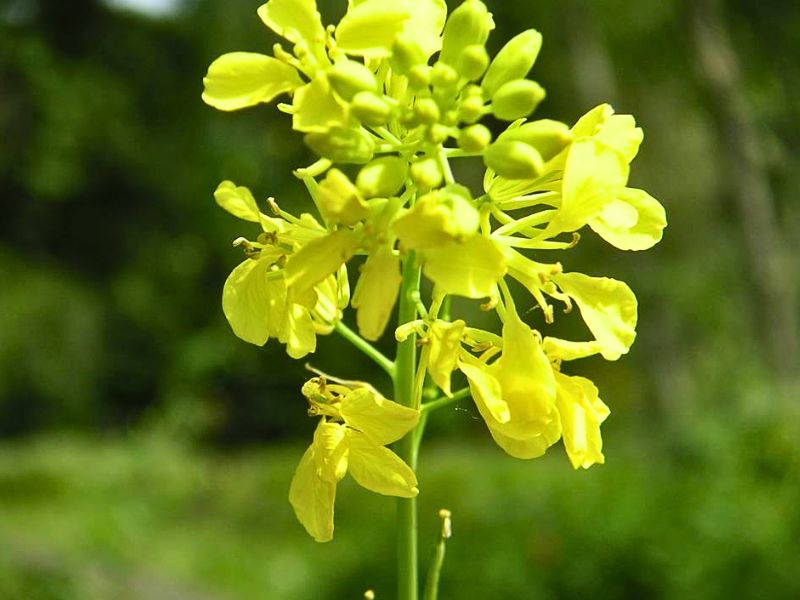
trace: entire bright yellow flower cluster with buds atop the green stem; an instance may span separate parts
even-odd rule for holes
[[[512,456],[537,457],[563,439],[575,468],[602,463],[608,408],[588,379],[561,366],[625,354],[636,298],[621,281],[567,272],[532,251],[572,248],[587,225],[621,250],[661,239],[663,207],[627,187],[643,138],[633,117],[602,104],[572,126],[529,120],[545,97],[528,79],[541,35],[524,31],[491,59],[485,43],[494,23],[481,0],[464,0],[449,16],[444,0],[349,0],[328,27],[315,0],[270,0],[258,16],[291,51],[276,44],[273,56],[221,56],[203,99],[236,110],[288,95],[291,103],[278,108],[318,157],[296,174],[319,215],[290,215],[273,199],[267,215],[246,188],[220,184],[218,204],[261,230],[235,242],[246,258],[223,291],[236,335],[258,345],[277,338],[300,358],[350,305],[360,335],[376,340],[394,312],[402,265],[412,262],[433,293],[396,337],[417,336],[418,372],[451,396],[460,371]],[[487,116],[509,123],[496,138],[479,122]],[[450,161],[462,157],[481,157],[483,193],[454,180]],[[346,264],[357,255],[365,259],[351,297]],[[553,300],[567,311],[577,305],[587,339],[545,336],[524,323],[513,281],[541,308],[543,326],[553,321]],[[482,300],[502,335],[451,319],[442,310],[449,295]],[[304,394],[322,420],[290,495],[315,539],[332,535],[335,484],[348,469],[368,489],[416,494],[413,472],[384,446],[415,427],[420,393],[410,407],[369,387],[320,380]]]

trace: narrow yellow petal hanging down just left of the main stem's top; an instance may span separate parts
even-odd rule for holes
[[[400,259],[390,246],[373,250],[361,267],[353,294],[358,331],[368,340],[377,340],[392,316],[400,289]]]

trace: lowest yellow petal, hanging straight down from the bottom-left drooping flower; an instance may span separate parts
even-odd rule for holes
[[[317,477],[313,446],[306,450],[289,487],[289,502],[297,520],[317,542],[333,539],[336,484]]]

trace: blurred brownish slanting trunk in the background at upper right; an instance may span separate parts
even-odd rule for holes
[[[796,286],[782,241],[757,126],[743,93],[738,57],[715,0],[684,3],[702,83],[730,161],[727,170],[741,220],[746,264],[757,296],[757,320],[772,366],[798,361]]]

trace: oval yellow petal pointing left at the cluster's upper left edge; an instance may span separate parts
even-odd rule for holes
[[[211,63],[203,85],[203,102],[229,111],[269,102],[303,81],[293,67],[271,56],[231,52]]]

